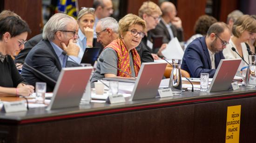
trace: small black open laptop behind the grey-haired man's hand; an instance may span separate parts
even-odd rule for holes
[[[86,48],[81,63],[89,63],[94,66],[94,62],[97,60],[100,51],[100,47]]]

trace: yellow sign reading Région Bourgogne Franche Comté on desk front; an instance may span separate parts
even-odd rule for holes
[[[239,143],[241,105],[228,106],[226,143]]]

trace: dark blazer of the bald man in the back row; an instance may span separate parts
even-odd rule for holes
[[[177,37],[178,40],[181,42],[184,40],[183,30],[176,28],[174,25],[171,25],[171,30],[173,32],[173,36]],[[160,20],[159,24],[156,25],[155,29],[151,30],[155,36],[162,36],[162,43],[169,43],[171,40],[171,36],[168,32],[167,27],[165,26],[162,19]]]

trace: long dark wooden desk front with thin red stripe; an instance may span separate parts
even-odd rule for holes
[[[0,113],[0,138],[20,143],[224,143],[227,106],[241,105],[240,142],[254,143],[255,92],[187,92],[118,105]]]

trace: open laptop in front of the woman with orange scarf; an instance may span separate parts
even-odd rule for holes
[[[166,62],[142,63],[131,94],[131,100],[155,98],[166,65]]]

